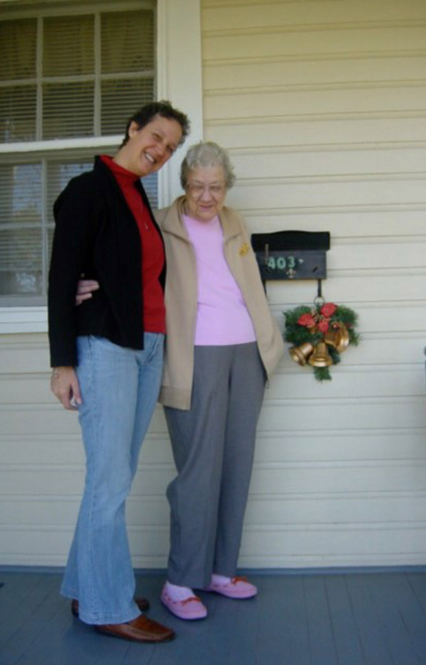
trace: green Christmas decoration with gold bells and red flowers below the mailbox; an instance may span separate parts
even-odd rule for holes
[[[301,366],[312,366],[318,381],[331,380],[329,367],[340,362],[349,345],[359,343],[357,314],[344,305],[317,298],[313,307],[300,305],[284,312],[284,317],[283,336],[293,344],[290,356]]]

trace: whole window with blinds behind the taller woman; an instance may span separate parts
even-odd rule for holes
[[[55,198],[154,98],[154,4],[43,5],[1,20],[0,43],[0,304],[43,304]]]

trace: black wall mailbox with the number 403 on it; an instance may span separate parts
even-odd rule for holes
[[[276,231],[253,233],[263,282],[268,280],[322,280],[327,277],[325,253],[330,248],[328,231]]]

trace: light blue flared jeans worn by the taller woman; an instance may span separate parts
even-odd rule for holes
[[[163,342],[163,334],[145,333],[145,348],[135,351],[100,337],[77,339],[86,481],[61,593],[79,600],[88,624],[141,613],[125,504],[160,389]]]

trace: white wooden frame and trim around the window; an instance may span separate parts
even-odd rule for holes
[[[21,0],[4,1],[8,9],[16,7],[13,18],[21,18]],[[91,3],[84,3],[87,7]],[[130,2],[135,8],[138,2]],[[179,5],[179,6],[178,6]],[[65,0],[58,0],[58,12],[70,12]],[[82,4],[79,3],[81,7]],[[102,7],[102,4],[101,4]],[[126,3],[127,7],[127,3]],[[28,9],[28,3],[25,4]],[[202,63],[201,63],[201,19],[200,0],[157,0],[156,6],[156,97],[170,99],[191,119],[190,142],[202,139]],[[119,145],[119,136],[97,136],[67,138],[55,141],[31,141],[13,143],[13,153],[35,153],[40,150],[72,150],[76,148],[99,148]],[[185,154],[186,146],[179,148],[170,163],[158,173],[158,202],[160,207],[170,204],[181,192],[178,165]],[[0,156],[11,153],[11,144],[0,145]],[[0,334],[46,332],[48,329],[47,307],[19,306],[0,307]]]

